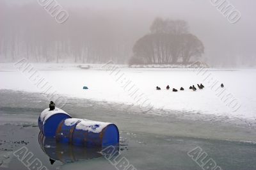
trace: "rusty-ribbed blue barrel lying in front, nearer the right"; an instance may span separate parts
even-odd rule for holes
[[[88,148],[115,146],[119,143],[119,131],[113,123],[70,118],[59,124],[56,141]]]

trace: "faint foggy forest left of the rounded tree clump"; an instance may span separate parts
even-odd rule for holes
[[[8,6],[0,1],[0,61],[26,57],[33,62],[125,63],[134,38],[130,29],[88,11],[69,12],[58,24],[39,5]],[[117,21],[117,20],[116,20]]]

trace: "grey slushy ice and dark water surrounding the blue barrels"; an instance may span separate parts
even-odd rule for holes
[[[5,162],[0,162],[1,169],[27,169],[12,156],[22,146],[47,169],[116,169],[97,149],[50,142],[42,150],[36,121],[48,102],[38,93],[0,91],[0,161]],[[212,158],[222,169],[256,169],[256,144],[241,142],[256,141],[255,127],[246,121],[200,115],[187,118],[189,113],[177,111],[154,116],[134,106],[76,98],[70,98],[63,109],[74,118],[115,123],[120,130],[120,157],[136,169],[202,169],[188,156],[196,147],[207,153],[204,163]],[[8,154],[12,157],[3,157]],[[49,156],[56,160],[53,164]]]

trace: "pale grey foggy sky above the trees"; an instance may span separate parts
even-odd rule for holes
[[[36,0],[0,0],[0,5],[3,2],[10,6],[29,4],[29,8],[41,7]],[[74,13],[92,19],[98,15],[102,20],[111,20],[109,29],[115,27],[117,35],[127,38],[124,41],[132,44],[149,32],[156,17],[181,19],[189,23],[190,32],[204,43],[205,61],[212,65],[225,65],[238,57],[246,63],[251,59],[255,62],[256,1],[229,2],[241,12],[241,19],[236,24],[230,24],[210,0],[58,0],[70,15],[63,25],[76,22],[72,17]],[[48,17],[52,20],[50,15]],[[33,20],[40,22],[36,17]]]

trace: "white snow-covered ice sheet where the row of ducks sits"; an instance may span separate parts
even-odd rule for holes
[[[214,114],[227,117],[246,118],[255,120],[256,116],[256,70],[254,69],[224,69],[207,68],[207,73],[212,81],[225,85],[227,93],[230,93],[240,107],[232,109],[227,102],[216,95],[205,79],[205,75],[198,73],[195,68],[127,68],[118,66],[115,71],[108,70],[108,66],[92,65],[89,70],[82,70],[77,64],[33,64],[41,77],[56,89],[59,95],[67,97],[86,98],[102,102],[115,102],[120,104],[141,105],[134,100],[131,91],[125,90],[123,82],[115,76],[122,75],[122,79],[134,84],[133,91],[143,95],[155,109],[184,111],[200,114]],[[106,70],[107,69],[107,70]],[[111,73],[113,72],[113,73]],[[117,80],[118,79],[118,80]],[[0,89],[13,89],[28,92],[42,93],[27,75],[19,72],[13,63],[0,64]],[[116,81],[117,80],[117,81]],[[205,89],[191,91],[189,86],[204,84]],[[167,91],[165,87],[184,91],[177,93]],[[89,89],[83,89],[87,86]],[[156,90],[161,87],[161,91]],[[197,88],[197,86],[196,86]],[[166,112],[163,112],[166,114]]]

